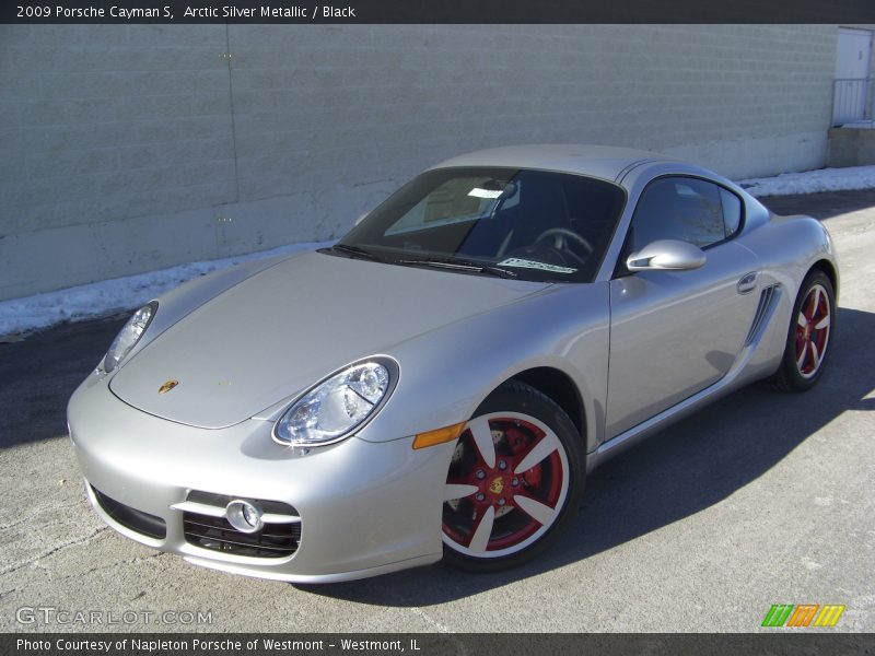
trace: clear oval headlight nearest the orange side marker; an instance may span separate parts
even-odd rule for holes
[[[330,444],[362,425],[388,398],[398,366],[388,358],[353,364],[316,385],[292,403],[273,437],[295,446]]]

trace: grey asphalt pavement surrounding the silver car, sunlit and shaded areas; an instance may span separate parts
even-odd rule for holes
[[[875,631],[875,191],[765,200],[837,244],[819,385],[751,386],[608,462],[561,543],[499,574],[294,586],[125,539],[89,507],[65,422],[125,317],[0,344],[0,631],[749,632],[773,604]]]

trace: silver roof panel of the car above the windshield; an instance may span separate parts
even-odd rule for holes
[[[623,171],[643,161],[675,162],[676,160],[651,151],[610,145],[537,144],[476,151],[441,162],[433,168],[506,166],[561,171],[616,180]]]

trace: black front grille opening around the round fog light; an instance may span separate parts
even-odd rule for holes
[[[287,503],[278,501],[249,500],[258,505],[265,515],[281,516],[293,522],[270,523],[265,520],[261,530],[253,534],[238,531],[229,524],[224,516],[215,513],[207,514],[190,509],[191,504],[211,506],[212,509],[222,509],[238,496],[212,494],[192,491],[188,495],[183,512],[183,527],[185,539],[189,544],[233,553],[234,555],[248,555],[254,558],[283,558],[298,551],[301,540],[301,522],[298,511]],[[188,506],[188,507],[186,507]]]

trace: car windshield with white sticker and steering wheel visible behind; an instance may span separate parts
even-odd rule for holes
[[[394,265],[592,282],[625,201],[617,185],[581,175],[438,168],[393,194],[330,250]]]

